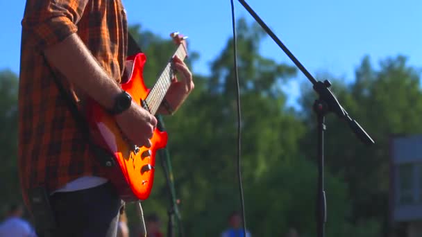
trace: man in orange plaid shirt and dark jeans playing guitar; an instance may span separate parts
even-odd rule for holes
[[[87,98],[95,100],[131,143],[148,148],[157,121],[119,85],[127,42],[121,0],[26,1],[18,163],[22,194],[39,236],[116,235],[121,200],[105,178],[107,168],[98,164],[69,112],[55,77],[78,109],[83,111]],[[170,108],[176,111],[194,89],[183,60],[174,57],[173,62],[182,80],[171,82],[166,107],[158,110],[163,114]]]

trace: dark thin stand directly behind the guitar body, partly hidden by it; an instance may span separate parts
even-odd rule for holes
[[[162,116],[158,114],[155,116],[157,118],[158,124],[157,128],[161,132],[165,131],[164,128],[164,121],[162,120]],[[173,170],[171,169],[170,163],[170,155],[169,150],[166,148],[162,148],[158,150],[158,155],[160,155],[160,161],[162,170],[164,172],[164,176],[167,182],[167,189],[169,190],[170,194],[170,207],[167,209],[167,215],[169,220],[167,222],[167,237],[174,237],[174,217],[177,218],[177,226],[178,226],[178,236],[183,237],[183,228],[182,228],[182,220],[180,217],[180,212],[178,209],[178,202],[179,200],[176,198],[176,191],[174,189],[174,179],[173,179]]]

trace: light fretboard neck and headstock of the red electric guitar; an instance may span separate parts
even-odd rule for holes
[[[183,44],[179,44],[178,49],[176,50],[176,53],[174,53],[180,60],[184,60],[186,58],[186,49]],[[160,107],[162,100],[164,99],[164,96],[167,94],[167,91],[169,90],[169,87],[171,85],[171,79],[174,78],[174,70],[171,67],[170,60],[166,67],[164,67],[164,70],[158,77],[157,82],[155,82],[155,85],[149,91],[148,96],[146,96],[145,102],[146,105],[149,107],[149,111],[151,114],[155,115],[158,111],[158,107]]]

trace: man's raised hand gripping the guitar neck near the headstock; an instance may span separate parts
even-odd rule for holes
[[[170,104],[174,112],[176,112],[187,96],[189,96],[190,92],[194,89],[194,81],[192,80],[192,73],[187,68],[185,62],[180,60],[177,56],[174,56],[173,64],[174,69],[176,69],[182,80],[177,80],[176,77],[173,79],[165,99]]]

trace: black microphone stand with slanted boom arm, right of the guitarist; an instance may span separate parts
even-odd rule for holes
[[[303,67],[301,62],[299,62],[292,52],[287,49],[285,44],[283,44],[278,37],[271,31],[267,24],[262,21],[262,19],[255,13],[255,11],[246,3],[244,0],[238,0],[242,6],[251,14],[255,21],[260,24],[260,26],[267,32],[271,39],[276,42],[278,46],[285,52],[292,62],[298,67],[299,70],[306,76],[308,80],[313,85],[313,89],[318,94],[319,98],[315,100],[313,105],[313,110],[317,116],[318,124],[318,147],[317,147],[317,157],[318,157],[318,187],[316,193],[316,219],[317,219],[317,232],[318,237],[324,236],[324,225],[327,220],[327,205],[326,205],[326,191],[324,190],[324,131],[326,130],[326,125],[324,124],[325,116],[329,112],[334,112],[337,114],[339,119],[344,119],[351,130],[355,133],[358,139],[366,145],[371,145],[375,143],[371,137],[363,130],[363,128],[357,123],[354,119],[351,119],[351,116],[348,115],[346,109],[341,107],[339,101],[329,89],[331,86],[330,81],[325,80],[324,82],[316,81],[315,78]]]

